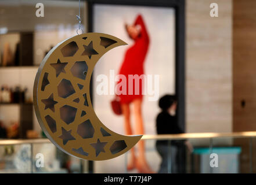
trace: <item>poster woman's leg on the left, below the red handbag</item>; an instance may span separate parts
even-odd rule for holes
[[[122,114],[124,115],[125,134],[132,135],[129,104],[128,103],[122,103],[121,108],[122,108]],[[136,164],[135,151],[134,151],[134,147],[132,147],[132,149],[131,149],[131,160],[128,162],[127,169],[128,170],[134,169],[135,164]]]

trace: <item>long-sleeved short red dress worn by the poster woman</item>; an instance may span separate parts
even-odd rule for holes
[[[140,76],[144,74],[143,64],[145,61],[147,50],[149,48],[149,35],[147,34],[147,30],[141,15],[136,17],[134,25],[140,25],[140,34],[138,38],[134,40],[135,42],[134,45],[129,47],[129,49],[126,51],[124,61],[122,62],[122,65],[119,71],[119,74],[125,75],[127,80],[126,94],[122,93],[120,95],[117,95],[118,97],[120,97],[121,103],[130,103],[134,99],[142,99],[142,88],[143,88],[142,80],[139,80],[140,81],[139,86],[136,87],[136,88],[139,87],[139,94],[138,94],[138,90],[137,90],[137,93],[135,94],[135,81],[133,81],[133,89],[132,89],[133,92],[130,89],[130,93],[128,93],[129,88],[132,88],[131,83],[130,83],[130,86],[128,85],[129,84],[128,75]],[[118,83],[120,82],[121,82],[121,79]],[[122,86],[120,87],[120,90],[122,90]]]

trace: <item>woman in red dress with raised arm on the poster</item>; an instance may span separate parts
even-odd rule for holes
[[[139,86],[135,87],[135,81],[133,86],[129,84],[128,75],[142,75],[144,74],[143,64],[145,62],[145,57],[149,48],[149,35],[147,33],[145,23],[143,22],[142,16],[138,15],[136,17],[135,23],[133,25],[125,25],[126,31],[131,39],[134,40],[134,45],[129,47],[125,53],[124,61],[122,62],[120,68],[120,75],[124,75],[127,80],[127,93],[122,91],[122,94],[117,95],[120,97],[122,114],[125,120],[125,132],[127,135],[132,135],[131,120],[130,120],[130,104],[134,104],[134,116],[135,116],[135,134],[144,134],[143,129],[143,119],[142,119],[142,88],[143,80],[139,80]],[[120,83],[121,80],[118,82]],[[118,84],[117,83],[117,84]],[[122,88],[122,87],[121,87]],[[129,88],[133,88],[129,93]],[[139,93],[135,93],[136,90]],[[133,92],[131,94],[131,92]],[[127,166],[128,170],[137,168],[141,173],[152,173],[149,165],[147,164],[145,157],[145,146],[142,140],[138,143],[138,157],[135,156],[134,148],[131,149],[131,160]]]

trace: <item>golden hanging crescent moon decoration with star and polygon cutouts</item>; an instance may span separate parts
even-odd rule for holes
[[[73,36],[45,56],[34,82],[34,108],[45,135],[60,150],[85,160],[109,160],[131,149],[142,135],[125,136],[96,116],[90,97],[95,64],[104,53],[127,45],[100,33]]]

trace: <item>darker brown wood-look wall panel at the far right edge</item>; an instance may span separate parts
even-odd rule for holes
[[[233,1],[233,131],[256,131],[256,1]],[[245,102],[244,107],[241,106]]]

